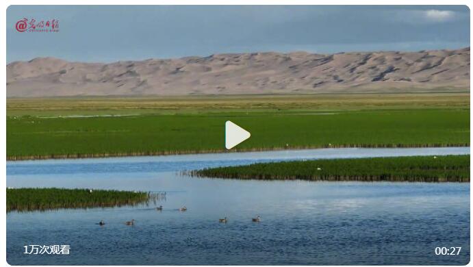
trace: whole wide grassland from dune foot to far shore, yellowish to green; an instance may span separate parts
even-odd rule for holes
[[[8,160],[470,145],[470,94],[8,99]]]

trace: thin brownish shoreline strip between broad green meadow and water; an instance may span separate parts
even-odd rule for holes
[[[238,153],[238,152],[263,152],[263,151],[283,151],[283,150],[303,150],[303,149],[346,149],[346,148],[427,148],[427,147],[470,147],[469,143],[464,144],[336,144],[336,145],[316,145],[316,146],[295,146],[295,147],[270,147],[270,148],[251,148],[251,149],[207,149],[207,150],[189,150],[189,151],[149,151],[136,153],[77,153],[62,155],[7,155],[7,162],[20,162],[27,160],[68,160],[68,159],[87,159],[87,158],[106,158],[106,157],[140,157],[140,156],[159,156],[159,155],[190,155],[190,154],[210,154],[210,153]]]

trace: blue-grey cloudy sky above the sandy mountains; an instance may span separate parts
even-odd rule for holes
[[[19,32],[27,18],[58,32]],[[7,63],[261,51],[420,51],[470,46],[465,5],[10,5]]]

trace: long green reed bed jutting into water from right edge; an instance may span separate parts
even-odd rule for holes
[[[470,155],[272,162],[206,168],[191,174],[259,180],[469,182]]]

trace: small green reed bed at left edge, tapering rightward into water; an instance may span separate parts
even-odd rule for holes
[[[66,188],[8,188],[7,212],[62,208],[118,207],[164,199],[166,193]]]

